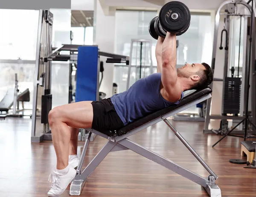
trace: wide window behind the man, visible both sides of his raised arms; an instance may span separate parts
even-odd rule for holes
[[[151,39],[153,66],[157,66],[154,51],[157,40],[148,32],[149,22],[157,16],[156,11],[116,11],[116,40],[115,53],[130,55],[131,39]],[[214,16],[213,16],[214,17]],[[185,63],[210,64],[212,57],[212,16],[209,13],[192,13],[189,29],[185,34],[177,37],[177,67]],[[156,71],[156,68],[154,69]],[[144,71],[143,71],[144,72]],[[146,74],[149,72],[145,71]],[[135,75],[132,69],[131,76]],[[118,85],[118,92],[126,90],[128,66],[114,67],[114,83]],[[134,81],[131,80],[134,83]],[[131,84],[130,82],[130,84]],[[198,113],[198,108],[192,107],[183,112]]]

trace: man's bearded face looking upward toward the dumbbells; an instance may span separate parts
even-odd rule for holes
[[[204,65],[198,64],[198,63],[192,63],[192,64],[186,64],[185,66],[182,66],[181,68],[177,69],[178,77],[194,77],[196,73],[200,70],[204,70]],[[198,76],[198,75],[197,75]]]

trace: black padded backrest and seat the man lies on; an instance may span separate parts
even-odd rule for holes
[[[173,105],[167,108],[163,108],[159,111],[155,111],[152,114],[148,114],[147,116],[141,117],[138,120],[135,120],[132,123],[128,123],[126,126],[120,128],[118,131],[109,131],[109,130],[98,130],[99,132],[108,135],[109,137],[115,135],[115,136],[121,136],[123,134],[128,133],[129,131],[133,130],[134,128],[137,128],[139,126],[144,125],[145,123],[151,122],[154,119],[157,119],[158,117],[163,116],[164,114],[167,114],[177,108],[180,108],[181,106],[184,106],[194,100],[197,100],[207,94],[212,93],[212,89],[210,87],[207,87],[205,89],[202,90],[197,90],[195,92],[193,92],[192,94],[189,94],[187,96],[185,96],[179,104],[177,105]]]

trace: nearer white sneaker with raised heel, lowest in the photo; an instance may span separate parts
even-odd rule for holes
[[[69,167],[67,174],[63,175],[53,170],[52,174],[49,175],[48,181],[51,182],[52,185],[50,190],[48,191],[49,197],[57,197],[61,195],[70,184],[70,182],[75,178],[76,170],[74,168]]]

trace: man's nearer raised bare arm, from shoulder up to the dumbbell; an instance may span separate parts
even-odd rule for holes
[[[176,70],[176,34],[167,32],[162,46],[162,84],[170,102],[180,99],[182,87]]]

